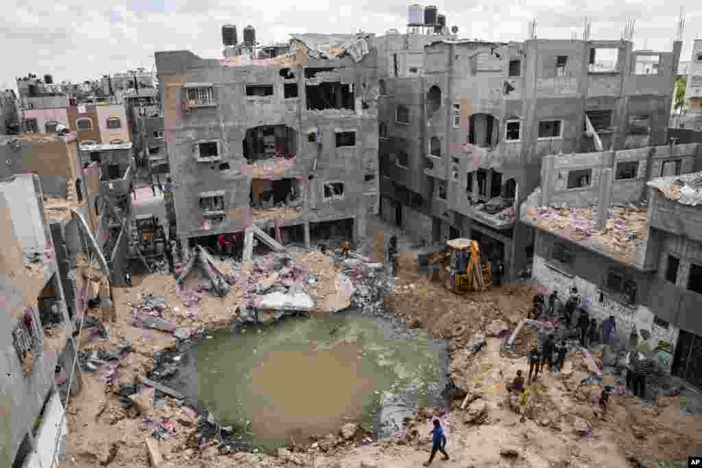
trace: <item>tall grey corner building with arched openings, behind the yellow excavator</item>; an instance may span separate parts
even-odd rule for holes
[[[480,241],[509,277],[531,262],[533,230],[516,221],[543,156],[667,142],[680,41],[672,52],[625,40],[373,43],[383,218],[422,243]]]

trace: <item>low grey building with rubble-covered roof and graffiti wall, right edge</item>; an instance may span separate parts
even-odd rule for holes
[[[640,334],[664,369],[696,386],[700,170],[698,144],[549,155],[520,214],[536,229],[533,276],[544,293],[564,302],[576,286],[590,317],[614,315],[616,341]]]

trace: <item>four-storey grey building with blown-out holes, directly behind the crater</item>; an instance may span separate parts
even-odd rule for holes
[[[183,246],[249,227],[307,246],[364,234],[378,210],[371,39],[296,35],[274,58],[226,39],[223,60],[156,53]]]

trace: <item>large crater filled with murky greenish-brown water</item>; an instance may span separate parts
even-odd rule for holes
[[[275,450],[350,421],[391,435],[417,406],[445,403],[448,361],[446,342],[426,330],[347,311],[216,331],[180,357],[167,383]]]

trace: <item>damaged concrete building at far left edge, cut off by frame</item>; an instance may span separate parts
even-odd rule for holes
[[[0,450],[3,466],[53,466],[65,446],[67,375],[76,342],[73,313],[60,280],[60,255],[44,213],[39,177],[13,175],[0,182],[0,297],[3,306],[3,407],[11,408]],[[79,390],[79,370],[71,394]],[[22,464],[25,463],[25,464]]]

